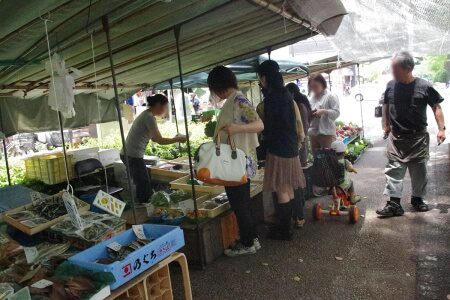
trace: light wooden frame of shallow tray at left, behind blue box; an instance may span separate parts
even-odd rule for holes
[[[50,196],[50,197],[62,197],[62,192],[60,192],[58,194],[55,194],[53,196]],[[63,201],[63,200],[61,199],[61,201]],[[89,204],[87,204],[84,201],[81,201],[78,198],[75,198],[75,202],[78,204],[78,206],[79,206],[78,207],[78,211],[80,211],[80,212],[88,211],[89,208],[90,208]],[[47,223],[40,224],[40,225],[38,225],[36,227],[28,227],[28,226],[20,223],[20,221],[18,221],[16,219],[13,219],[13,218],[11,218],[9,216],[11,214],[18,213],[18,212],[21,212],[21,211],[27,211],[27,210],[31,209],[32,207],[33,207],[33,204],[30,203],[30,204],[19,206],[19,207],[15,208],[15,209],[9,210],[9,211],[7,211],[7,212],[5,212],[3,214],[3,220],[6,223],[8,223],[9,225],[19,229],[20,231],[22,231],[22,232],[24,232],[24,233],[26,233],[28,235],[34,235],[36,233],[39,233],[41,231],[44,231],[45,229],[48,229],[48,228],[52,227],[56,223],[64,220],[64,218],[67,216],[67,214],[62,215],[59,218],[50,220]]]

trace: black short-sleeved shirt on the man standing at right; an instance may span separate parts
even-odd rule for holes
[[[416,78],[409,84],[390,81],[384,93],[389,104],[392,129],[396,132],[422,131],[427,128],[427,106],[435,106],[444,98],[426,80]]]

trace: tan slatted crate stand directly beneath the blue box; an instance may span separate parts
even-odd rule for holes
[[[180,264],[183,274],[184,298],[192,299],[191,281],[189,269],[184,254],[175,252],[158,264],[154,265],[130,282],[122,285],[111,293],[107,300],[149,300],[149,299],[173,299],[172,284],[170,282],[169,264],[177,262]]]

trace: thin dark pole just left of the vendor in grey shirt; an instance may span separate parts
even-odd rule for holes
[[[105,31],[105,35],[106,35],[106,44],[108,45],[109,64],[111,67],[111,77],[112,77],[113,86],[114,86],[114,99],[115,99],[116,110],[117,110],[117,118],[119,121],[120,137],[122,138],[123,155],[125,156],[128,188],[130,189],[131,203],[133,205],[133,218],[134,218],[134,223],[136,224],[137,223],[137,221],[136,221],[136,205],[135,205],[135,201],[134,201],[133,185],[131,183],[131,173],[130,173],[130,167],[129,167],[130,164],[128,161],[127,146],[125,143],[125,134],[123,132],[122,114],[120,113],[119,92],[117,91],[116,72],[114,70],[114,61],[113,61],[112,50],[111,50],[111,39],[109,37],[108,16],[102,17],[102,24],[103,24],[103,30]]]

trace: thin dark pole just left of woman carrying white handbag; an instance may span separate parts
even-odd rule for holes
[[[178,60],[178,72],[180,75],[180,89],[181,89],[181,100],[183,101],[183,114],[184,114],[184,129],[186,131],[186,145],[189,159],[189,173],[191,178],[191,191],[192,191],[192,199],[194,200],[194,216],[195,216],[195,227],[197,230],[197,245],[200,252],[200,264],[201,267],[205,266],[205,259],[203,255],[203,247],[202,247],[202,235],[200,232],[200,228],[198,226],[198,207],[197,207],[197,197],[195,195],[195,185],[194,185],[194,168],[192,167],[192,157],[191,157],[191,143],[189,140],[189,127],[187,121],[187,112],[186,112],[186,101],[184,99],[184,83],[183,83],[183,68],[181,67],[181,54],[180,54],[180,30],[181,26],[176,26],[173,28],[173,32],[175,34],[175,44],[177,48],[177,60]]]

